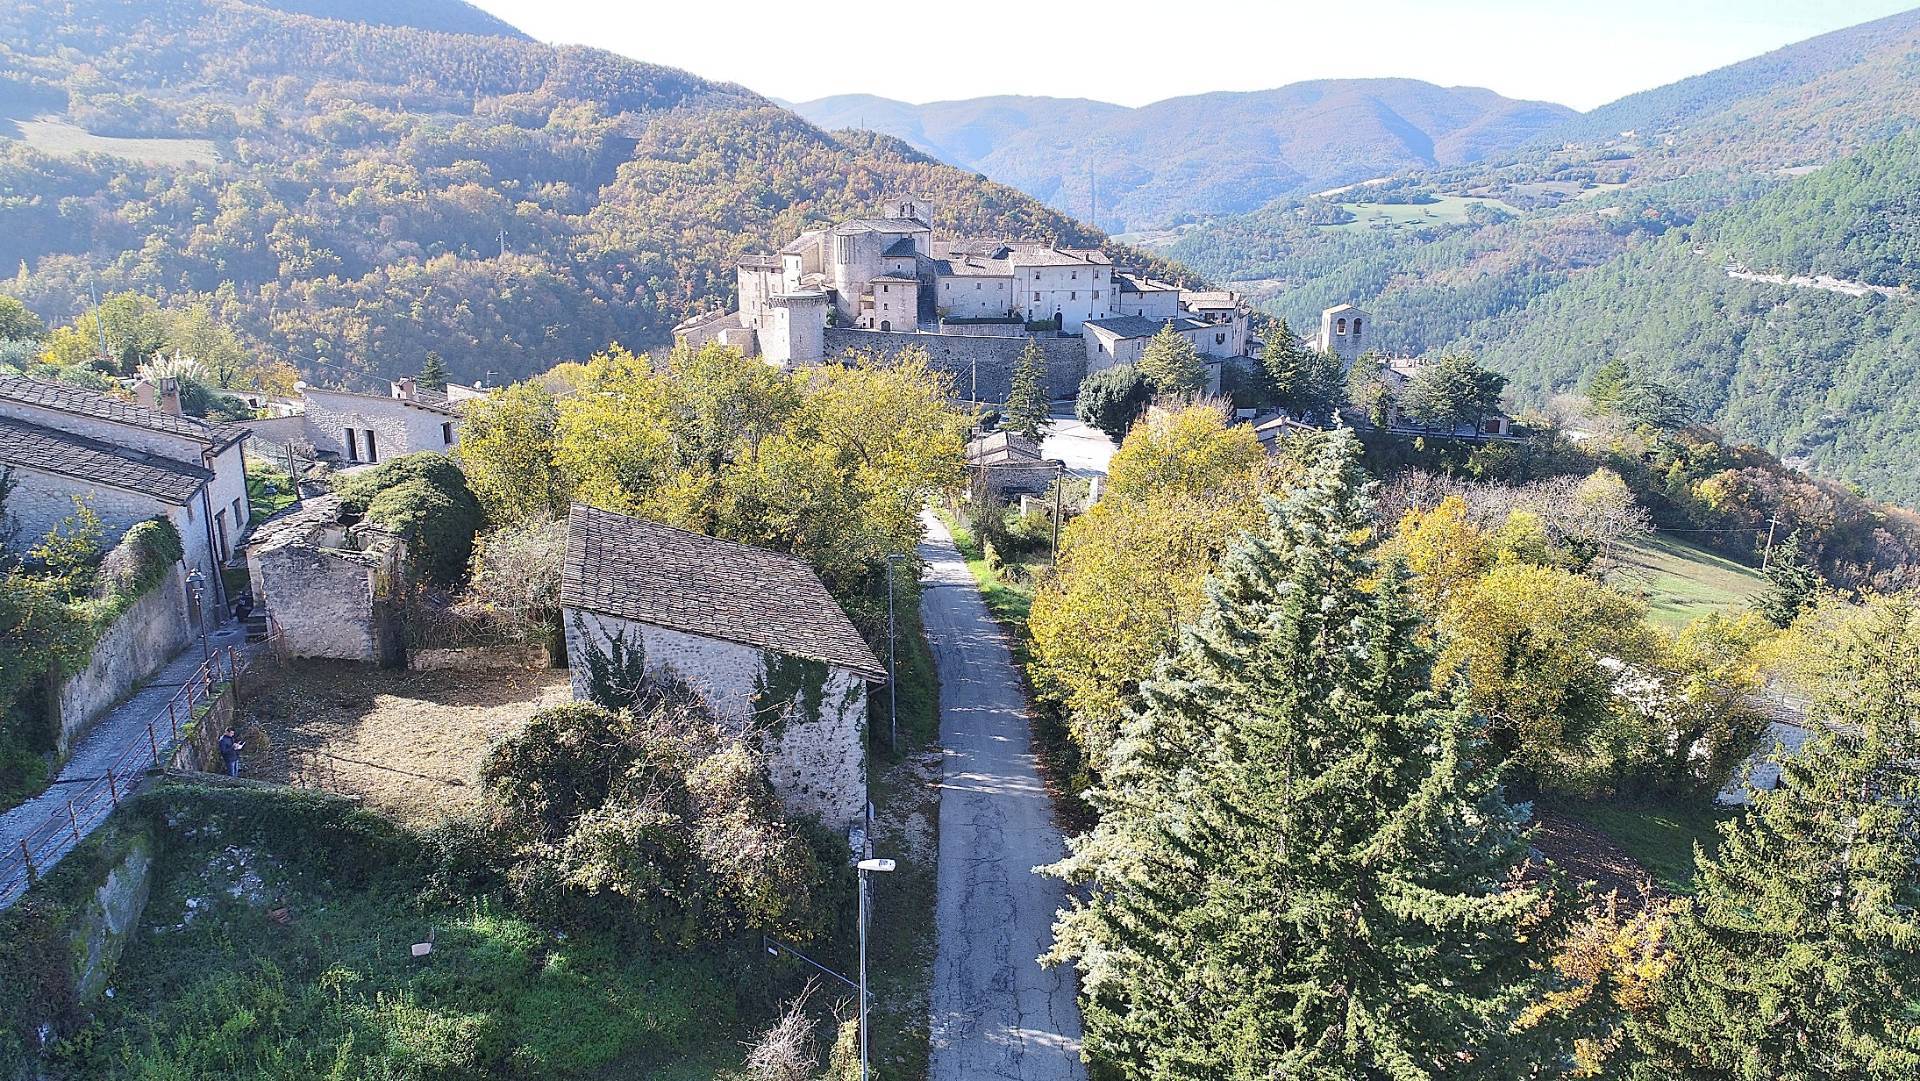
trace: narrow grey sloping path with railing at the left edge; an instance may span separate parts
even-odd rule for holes
[[[238,624],[213,634],[207,643],[211,649],[238,645],[246,653],[246,634]],[[44,793],[0,814],[0,854],[17,854],[19,843],[25,839],[33,847],[35,870],[46,874],[48,868],[79,843],[73,837],[75,828],[83,839],[98,829],[108,820],[108,814],[111,814],[113,803],[104,793],[100,799],[84,803],[83,793],[90,789],[94,778],[106,774],[108,766],[121,760],[129,753],[129,747],[150,747],[146,733],[150,720],[156,722],[154,728],[159,733],[161,755],[173,751],[167,701],[200,668],[200,662],[202,647],[200,639],[194,637],[184,649],[173,655],[173,661],[154,672],[138,691],[94,722],[60,768],[60,778]],[[131,778],[131,783],[138,783],[140,780],[138,776]],[[125,785],[119,791],[121,797],[127,795]],[[67,818],[69,799],[75,801],[77,808],[73,820]],[[17,874],[17,862],[0,858],[0,908],[8,908],[19,901],[25,887],[23,876]]]

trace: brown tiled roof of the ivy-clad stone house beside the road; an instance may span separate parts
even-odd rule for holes
[[[574,503],[561,605],[885,678],[804,561]]]

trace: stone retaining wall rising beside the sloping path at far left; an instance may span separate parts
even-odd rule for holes
[[[113,620],[113,626],[94,643],[86,668],[69,674],[54,687],[52,709],[60,720],[56,743],[61,757],[67,749],[121,701],[134,684],[146,680],[186,645],[192,628],[186,622],[186,580],[175,565],[144,597]]]

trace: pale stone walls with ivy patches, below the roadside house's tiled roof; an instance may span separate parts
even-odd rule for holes
[[[787,810],[839,829],[866,818],[866,680],[858,674],[597,613],[568,609],[564,618],[576,699],[591,697],[588,651],[609,653],[618,634],[628,647],[641,643],[649,676],[672,674],[722,724],[758,741]],[[808,664],[818,668],[808,672]],[[791,682],[804,691],[781,714],[764,716],[764,695]]]

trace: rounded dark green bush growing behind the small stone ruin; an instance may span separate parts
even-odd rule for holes
[[[430,582],[451,586],[467,574],[482,511],[447,455],[397,457],[342,480],[336,492],[346,520],[365,518],[399,534],[407,561]]]

